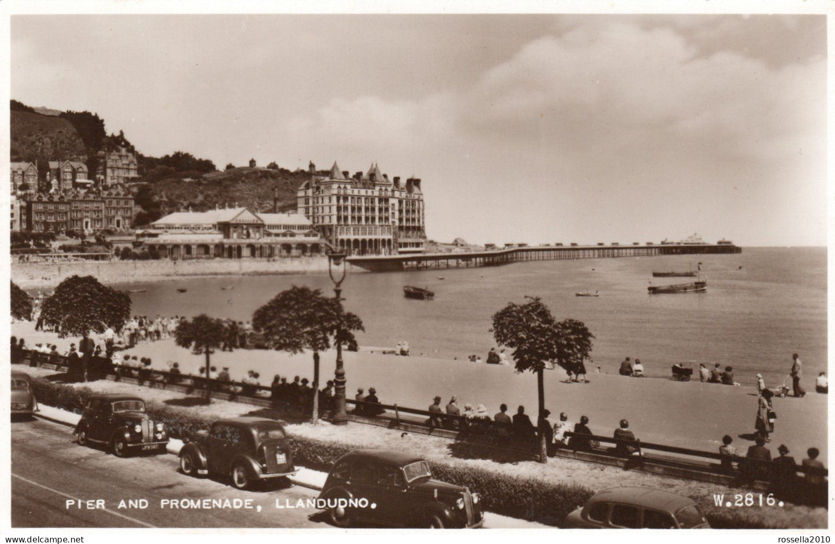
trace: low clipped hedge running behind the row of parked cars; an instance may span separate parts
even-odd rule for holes
[[[89,387],[74,387],[33,378],[33,390],[38,402],[80,414],[89,395]],[[213,419],[192,413],[187,408],[172,407],[148,401],[145,410],[154,421],[162,421],[172,438],[193,438],[197,431],[208,429]],[[331,465],[350,451],[368,445],[347,444],[306,436],[289,436],[296,464],[313,470],[329,471]],[[484,500],[484,509],[503,516],[511,516],[548,525],[559,525],[577,506],[584,504],[594,491],[579,484],[553,483],[537,478],[522,478],[498,474],[470,466],[456,466],[443,461],[429,461],[438,480],[467,486]],[[759,520],[746,519],[736,511],[706,512],[711,526],[716,528],[769,528]]]

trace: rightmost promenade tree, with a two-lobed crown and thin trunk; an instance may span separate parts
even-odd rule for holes
[[[591,339],[595,336],[581,322],[565,320],[558,323],[548,306],[538,297],[524,305],[511,302],[493,315],[493,337],[499,345],[513,351],[516,371],[536,373],[539,415],[545,409],[544,370],[556,362],[566,370],[589,358]],[[548,462],[545,434],[539,433],[539,461]]]

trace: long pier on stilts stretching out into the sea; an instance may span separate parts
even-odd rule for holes
[[[499,266],[528,260],[612,259],[658,255],[738,254],[733,244],[633,244],[633,245],[537,245],[469,251],[405,255],[359,255],[348,257],[354,266],[373,272],[474,268]]]

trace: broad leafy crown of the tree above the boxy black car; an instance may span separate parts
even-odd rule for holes
[[[93,276],[73,275],[43,301],[41,316],[58,325],[61,338],[86,337],[107,327],[120,330],[130,318],[130,295],[100,284]]]

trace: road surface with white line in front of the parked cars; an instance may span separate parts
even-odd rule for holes
[[[185,476],[177,461],[172,455],[119,459],[78,446],[67,426],[40,419],[13,421],[12,526],[329,527],[315,509],[276,508],[276,500],[282,506],[296,505],[299,499],[316,497],[316,491],[281,482],[238,491],[225,481]],[[148,507],[119,508],[123,499],[145,499]],[[253,508],[161,508],[165,499],[251,499]],[[68,508],[69,500],[103,500],[104,508]]]

